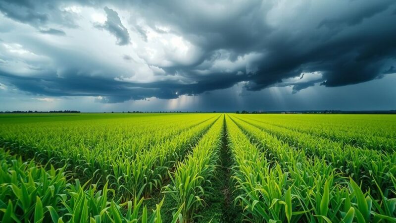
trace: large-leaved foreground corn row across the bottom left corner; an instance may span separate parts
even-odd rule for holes
[[[0,222],[3,223],[162,223],[160,202],[153,212],[141,200],[118,204],[105,184],[68,182],[65,168],[22,162],[0,149]],[[141,214],[139,214],[141,213]],[[183,221],[180,210],[172,223]]]

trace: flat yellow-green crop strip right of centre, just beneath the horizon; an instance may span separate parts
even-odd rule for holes
[[[245,119],[284,127],[293,131],[328,138],[345,145],[388,152],[392,152],[396,148],[395,126],[392,126],[392,124],[386,120],[374,121],[371,119],[363,119],[364,121],[362,121],[360,119],[342,119],[342,122],[337,122],[336,118],[338,115],[335,115],[327,117],[327,120],[331,121],[329,122],[324,121],[324,118],[317,119],[315,116],[297,116],[301,119],[285,118],[285,116],[279,115],[274,116],[273,118],[272,116],[271,118],[262,118],[257,115],[245,115],[244,117]],[[364,117],[365,116],[362,116],[361,118]]]

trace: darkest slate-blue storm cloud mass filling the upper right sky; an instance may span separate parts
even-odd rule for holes
[[[219,43],[207,44],[207,52],[216,50],[216,46],[228,49],[235,55],[251,51],[265,52],[263,60],[257,62],[258,71],[245,79],[249,81],[248,90],[261,90],[284,78],[312,71],[324,74],[322,84],[325,86],[343,86],[379,77],[384,69],[389,68],[387,59],[395,63],[396,26],[384,23],[396,19],[387,11],[395,7],[395,1],[381,1],[374,5],[368,1],[356,0],[354,3],[366,3],[366,6],[358,12],[348,11],[347,15],[339,16],[340,19],[312,18],[319,25],[302,25],[297,30],[265,25],[256,28],[254,21],[258,19],[254,9],[245,15],[245,18],[250,17],[252,20],[244,21],[244,18],[236,16],[233,20],[212,27],[200,24],[197,18],[181,29],[183,33],[187,30],[193,36],[192,41],[196,35],[194,30],[187,28],[195,27],[191,23],[198,23],[197,35],[206,33],[209,37],[207,42],[216,41],[215,37],[219,37]],[[350,6],[351,9],[353,6]],[[371,7],[374,9],[370,10]],[[304,15],[300,13],[298,16]],[[368,19],[371,20],[365,21]],[[302,34],[294,36],[294,31]]]

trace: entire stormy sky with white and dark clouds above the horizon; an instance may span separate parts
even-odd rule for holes
[[[0,0],[0,111],[395,109],[395,0]]]

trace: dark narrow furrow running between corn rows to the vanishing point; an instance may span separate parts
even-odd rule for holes
[[[214,188],[212,195],[205,199],[207,206],[200,212],[202,218],[197,219],[199,223],[239,223],[241,222],[241,210],[234,207],[232,196],[233,187],[231,178],[231,154],[227,146],[227,125],[224,118],[224,136],[220,149],[220,164],[217,169],[216,178],[212,180]]]

